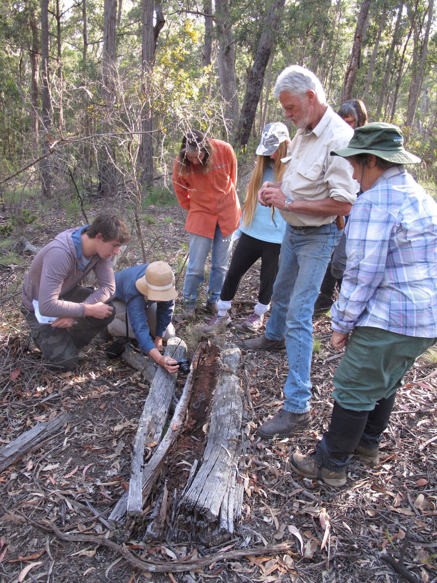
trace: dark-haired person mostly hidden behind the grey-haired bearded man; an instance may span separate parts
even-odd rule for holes
[[[367,110],[361,99],[351,99],[340,106],[337,112],[341,119],[346,121],[352,129],[362,128],[367,123]],[[358,192],[357,196],[360,195]],[[344,222],[347,223],[347,216],[344,217]],[[314,304],[314,311],[321,312],[328,310],[334,303],[334,291],[337,288],[340,291],[341,280],[343,279],[344,268],[346,267],[346,234],[343,233],[340,241],[337,244],[329,262],[322,285],[320,286],[320,293]]]

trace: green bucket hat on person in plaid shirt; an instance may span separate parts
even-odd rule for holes
[[[347,158],[357,154],[373,154],[395,164],[420,162],[420,158],[407,152],[403,143],[402,132],[396,125],[377,121],[355,129],[348,146],[333,150],[331,156]]]

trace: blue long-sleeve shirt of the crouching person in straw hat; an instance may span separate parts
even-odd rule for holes
[[[139,293],[135,287],[135,282],[144,276],[147,265],[149,264],[135,265],[115,273],[115,300],[121,300],[127,304],[131,297]],[[139,349],[146,354],[149,354],[149,351],[156,347],[150,338],[149,325],[147,324],[146,310],[150,304],[153,302],[147,300],[143,294],[133,298],[128,304],[129,323],[138,341]],[[156,335],[164,336],[173,315],[174,300],[157,301],[156,304]]]

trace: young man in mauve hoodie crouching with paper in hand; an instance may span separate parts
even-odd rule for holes
[[[34,257],[23,281],[21,311],[49,364],[74,370],[79,350],[114,318],[111,257],[128,241],[121,219],[99,215],[91,225],[59,233]],[[80,285],[91,271],[97,290]]]

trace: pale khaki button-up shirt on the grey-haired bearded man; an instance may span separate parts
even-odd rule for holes
[[[354,131],[328,106],[322,119],[309,133],[298,129],[282,161],[286,169],[281,190],[293,201],[321,201],[329,196],[353,204],[360,185],[352,178],[352,166],[332,150],[348,145]],[[319,227],[332,223],[333,216],[301,215],[280,211],[283,219],[295,227]]]

